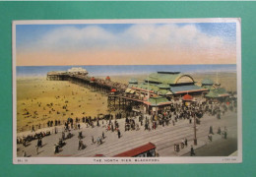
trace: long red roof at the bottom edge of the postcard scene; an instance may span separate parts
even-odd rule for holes
[[[124,156],[126,156],[126,157],[128,157],[128,156],[129,156],[129,157],[132,157],[132,156],[136,156],[136,155],[141,154],[141,153],[143,153],[143,152],[145,152],[145,151],[149,151],[149,150],[155,149],[155,148],[156,148],[156,146],[155,146],[154,144],[149,143],[149,144],[144,145],[144,146],[142,146],[142,147],[133,148],[133,149],[124,151],[124,152],[122,152],[122,153],[116,154],[116,155],[114,155],[114,156],[115,156],[115,157],[124,157]]]

